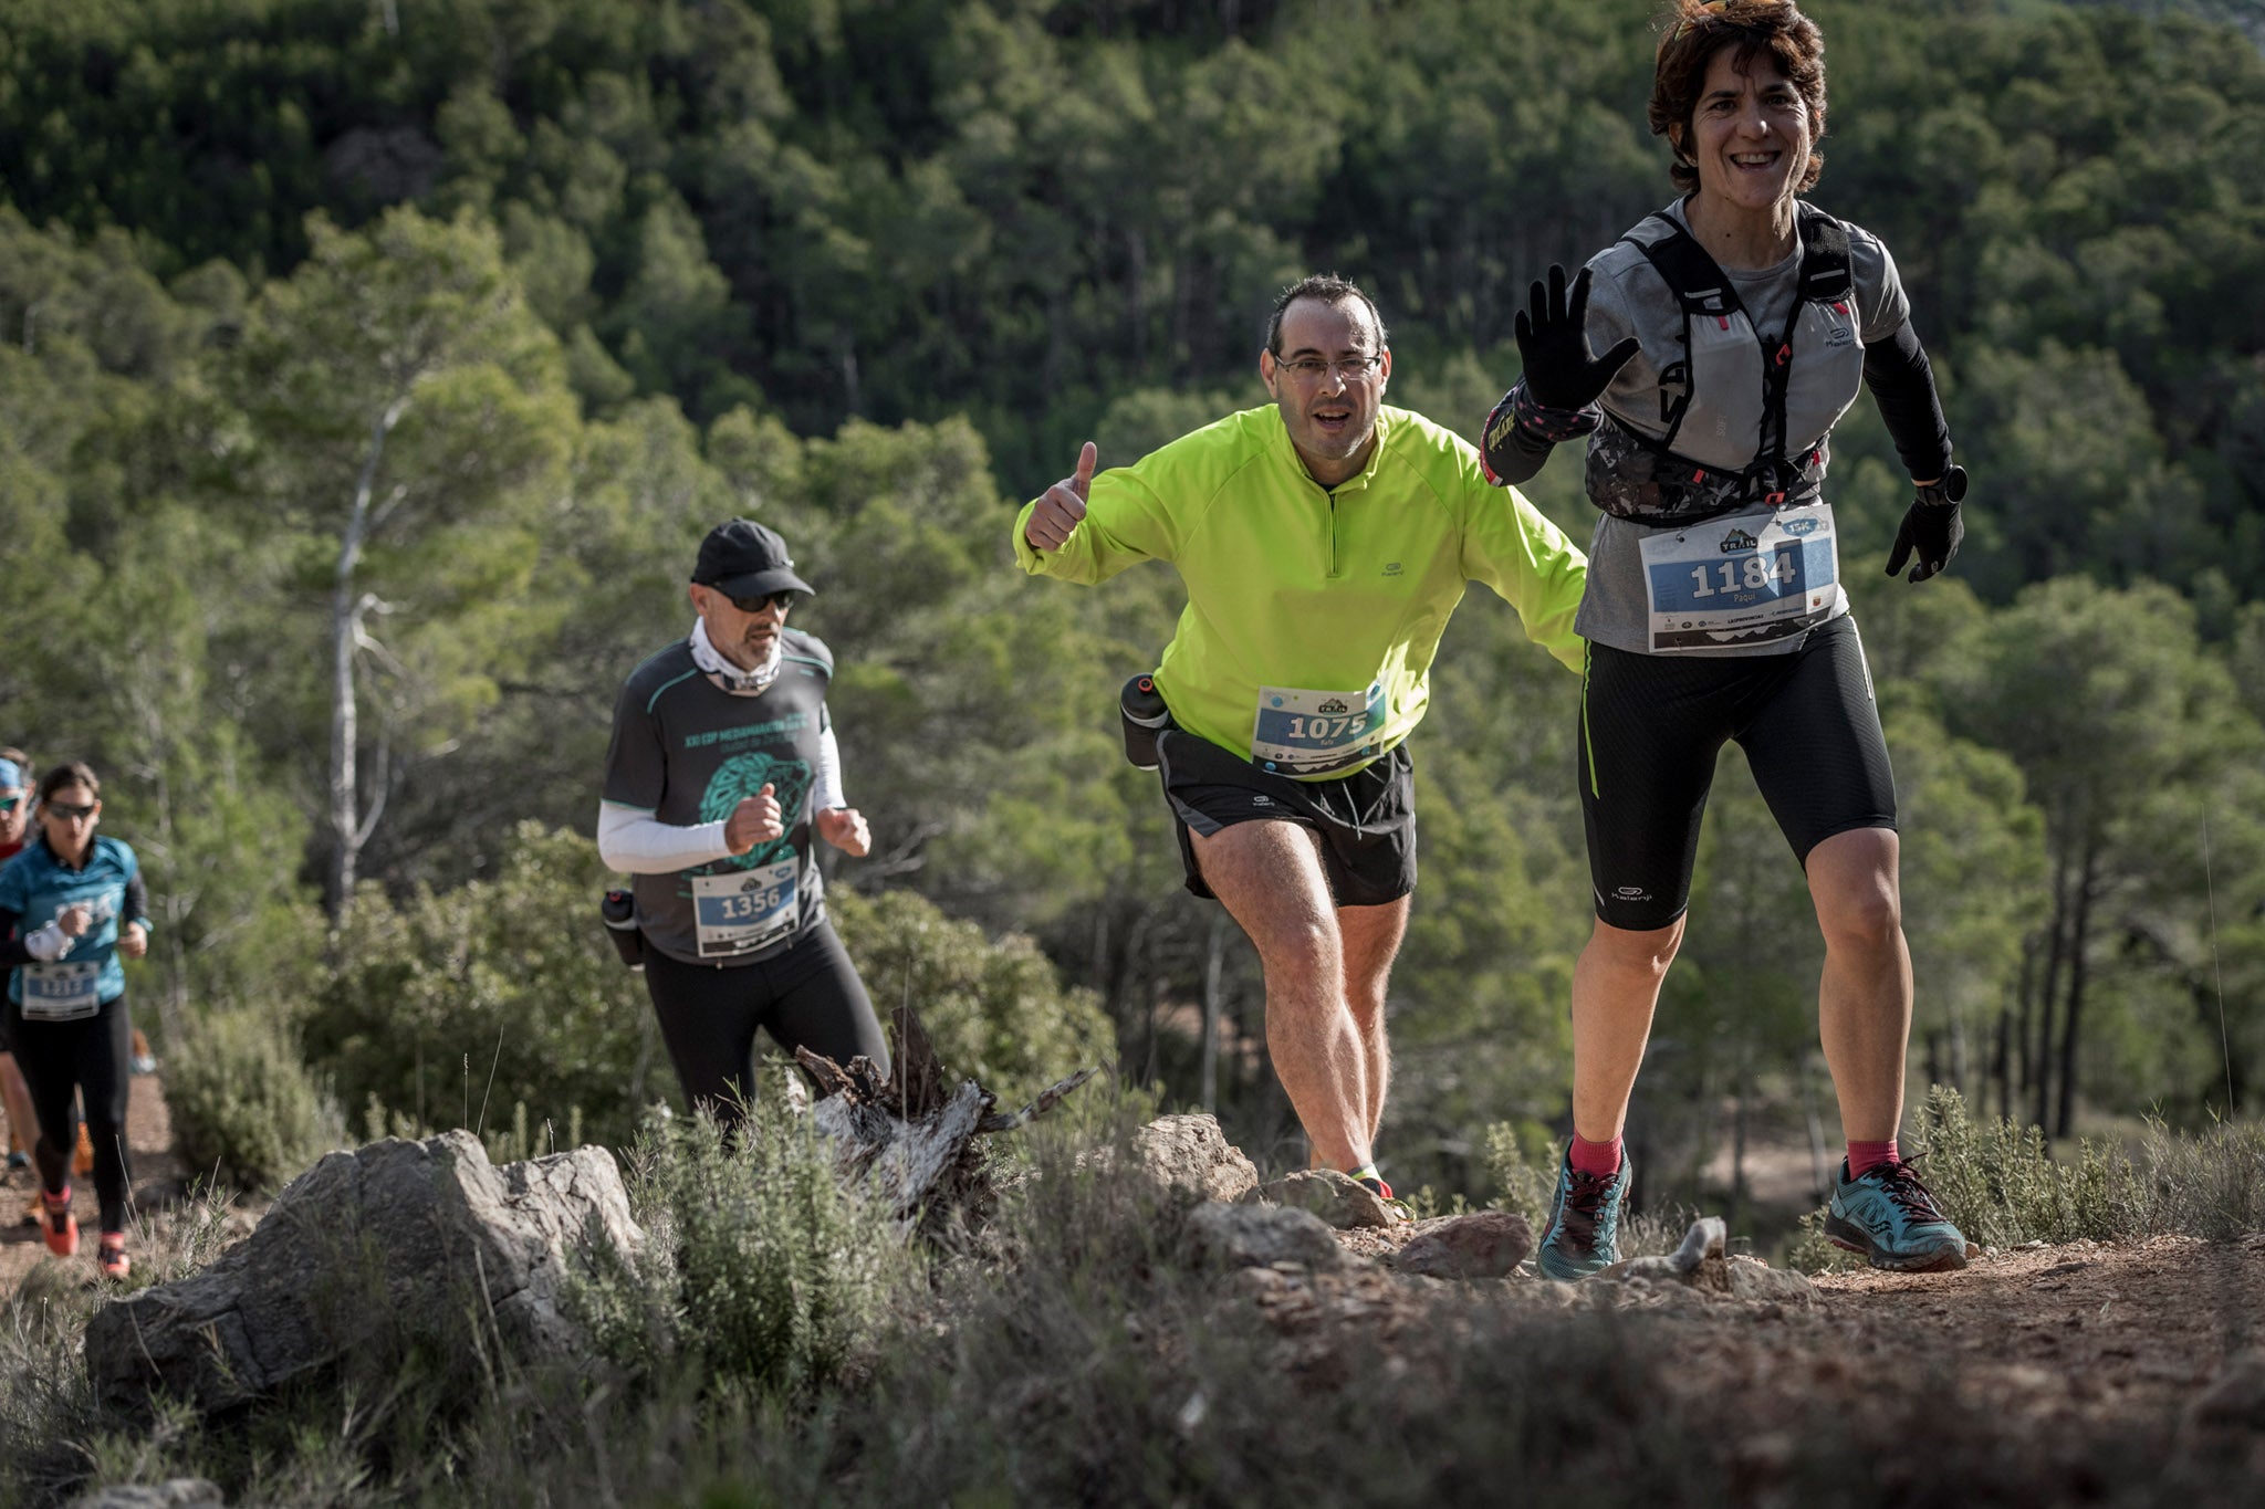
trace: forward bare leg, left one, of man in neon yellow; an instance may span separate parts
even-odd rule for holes
[[[1266,1052],[1314,1154],[1330,1167],[1366,1167],[1368,1054],[1345,1004],[1343,939],[1314,835],[1250,821],[1189,839],[1205,885],[1259,950]]]

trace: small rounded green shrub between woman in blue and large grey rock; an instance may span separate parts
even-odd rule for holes
[[[181,1161],[202,1179],[258,1190],[344,1142],[344,1122],[279,1014],[236,1007],[195,1018],[165,1061]]]

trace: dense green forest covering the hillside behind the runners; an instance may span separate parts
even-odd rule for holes
[[[1889,581],[1905,482],[1869,405],[1841,428],[1914,1063],[2054,1136],[2254,1113],[2265,23],[1807,9],[1817,199],[1894,249],[1975,477],[1952,575]],[[874,993],[956,1002],[1008,1090],[1114,1032],[1126,1079],[1291,1156],[1255,959],[1114,753],[1176,584],[1028,584],[1010,505],[1087,437],[1130,462],[1259,403],[1262,317],[1309,269],[1375,292],[1391,400],[1475,432],[1527,281],[1672,195],[1649,18],[14,0],[0,742],[106,774],[159,914],[145,1016],[276,1023],[349,1115],[439,1120],[492,1063],[498,1106],[618,1136],[666,1075],[573,835],[700,534],[752,514],[843,665]],[[1586,538],[1576,466],[1529,491]],[[1481,593],[1434,690],[1382,1147],[1463,1188],[1488,1122],[1565,1109],[1576,683]],[[1669,1183],[1724,1102],[1830,1104],[1821,946],[1737,765],[1631,1127]]]

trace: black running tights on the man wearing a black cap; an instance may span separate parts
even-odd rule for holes
[[[788,1054],[809,1047],[843,1066],[865,1054],[888,1072],[888,1038],[827,919],[759,964],[686,964],[648,948],[646,993],[684,1100],[725,1124],[754,1097],[757,1027]]]

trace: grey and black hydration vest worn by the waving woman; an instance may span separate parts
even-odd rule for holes
[[[1783,339],[1753,328],[1728,274],[1665,213],[1622,240],[1644,253],[1683,308],[1683,351],[1658,362],[1660,428],[1604,412],[1588,441],[1588,495],[1606,514],[1683,525],[1746,507],[1814,502],[1826,437],[1864,380],[1848,271],[1848,226],[1796,201],[1801,285]]]

